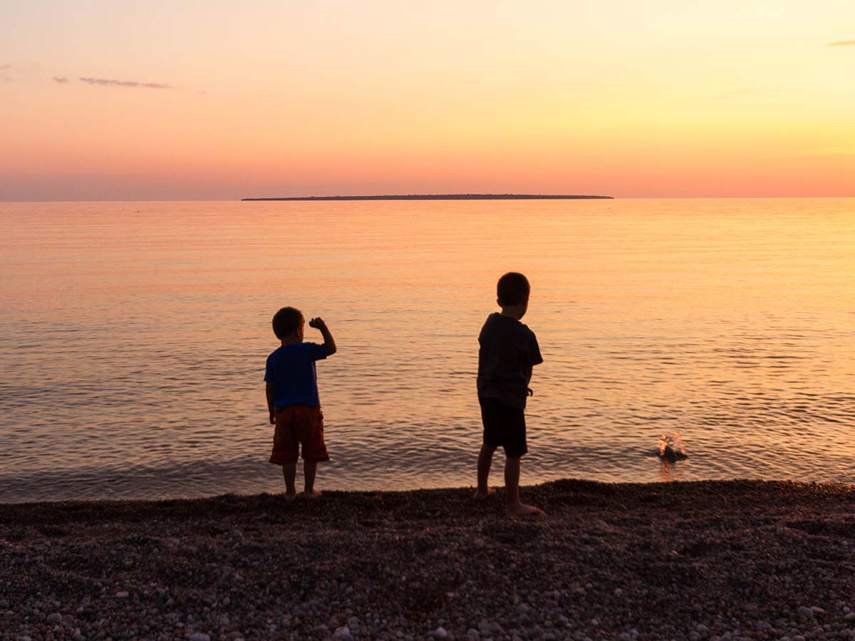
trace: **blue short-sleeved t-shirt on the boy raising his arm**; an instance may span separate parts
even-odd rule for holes
[[[264,380],[273,384],[276,409],[284,405],[321,407],[315,361],[327,357],[327,345],[294,343],[282,345],[268,356]]]

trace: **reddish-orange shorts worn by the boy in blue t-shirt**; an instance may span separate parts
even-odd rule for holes
[[[321,408],[286,405],[277,409],[270,462],[276,465],[296,463],[301,445],[304,461],[329,461],[327,444],[323,442]]]

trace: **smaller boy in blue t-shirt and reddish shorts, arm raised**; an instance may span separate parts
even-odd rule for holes
[[[273,331],[281,341],[267,360],[264,380],[270,423],[276,426],[270,462],[282,466],[287,498],[297,496],[294,480],[297,476],[297,456],[303,446],[304,494],[307,498],[321,496],[315,490],[317,464],[329,461],[323,441],[323,414],[318,397],[315,361],[335,354],[335,341],[321,318],[309,321],[310,327],[321,331],[323,344],[304,343],[303,314],[299,309],[283,307],[273,317]]]

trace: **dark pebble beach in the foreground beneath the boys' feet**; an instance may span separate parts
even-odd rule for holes
[[[471,492],[0,505],[0,638],[855,638],[852,486]]]

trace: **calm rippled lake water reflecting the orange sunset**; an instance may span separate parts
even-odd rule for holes
[[[286,304],[339,344],[321,488],[473,485],[477,337],[509,270],[545,358],[523,483],[855,482],[855,199],[0,203],[0,222],[0,503],[281,491],[262,377]],[[663,432],[686,460],[658,459]]]

